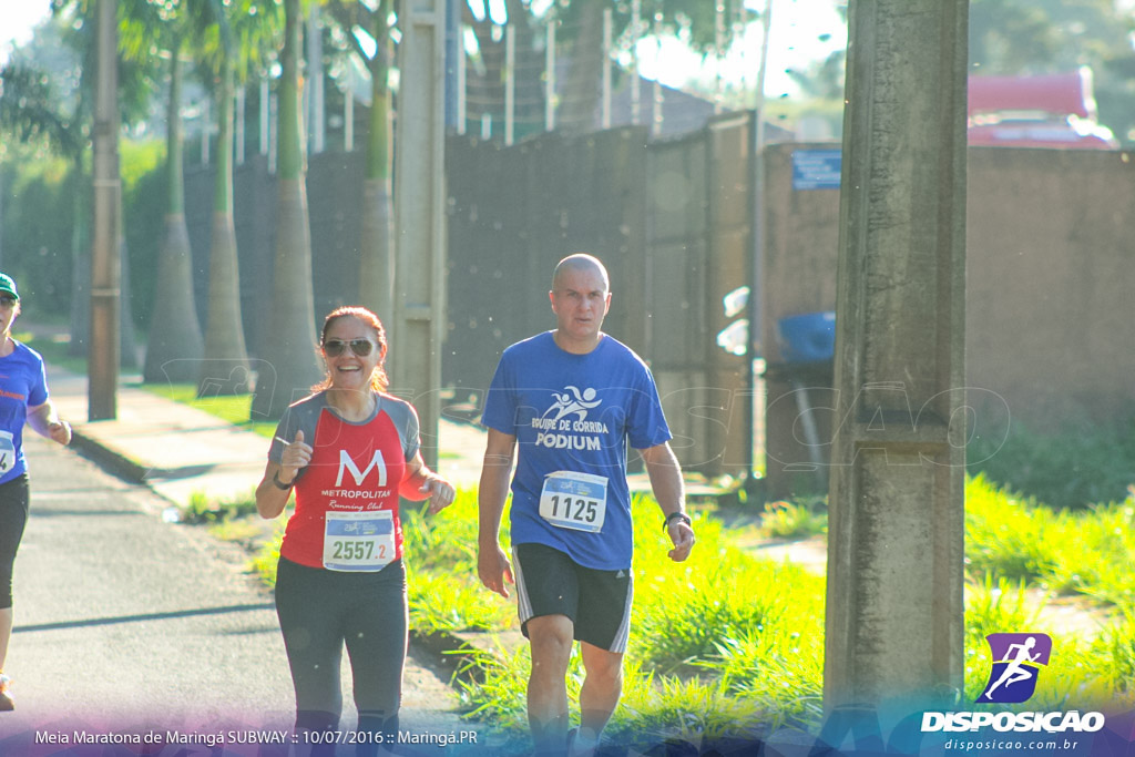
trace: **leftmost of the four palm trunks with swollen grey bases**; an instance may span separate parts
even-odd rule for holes
[[[166,170],[169,209],[166,236],[158,258],[158,281],[150,321],[142,379],[185,384],[196,379],[202,339],[193,300],[193,251],[185,225],[185,184],[182,165],[180,41],[170,50],[169,104],[166,124]]]

